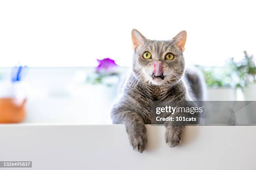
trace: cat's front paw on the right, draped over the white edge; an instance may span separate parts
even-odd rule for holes
[[[167,126],[165,131],[165,141],[171,148],[181,143],[184,127]]]

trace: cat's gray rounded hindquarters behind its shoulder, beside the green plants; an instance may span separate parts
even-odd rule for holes
[[[190,91],[192,91],[196,100],[206,100],[206,84],[202,72],[195,67],[188,67],[186,75]]]

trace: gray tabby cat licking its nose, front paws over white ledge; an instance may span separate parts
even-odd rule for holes
[[[172,40],[149,40],[132,30],[133,67],[123,92],[111,110],[114,124],[125,124],[134,150],[142,153],[147,145],[145,124],[151,124],[153,101],[203,100],[200,76],[187,73],[182,52],[187,32]],[[186,79],[186,80],[185,80]],[[189,88],[189,83],[192,87]],[[165,140],[172,148],[181,141],[184,126],[166,125]]]

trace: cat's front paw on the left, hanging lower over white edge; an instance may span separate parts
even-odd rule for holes
[[[133,150],[136,150],[140,153],[143,153],[147,146],[147,136],[144,133],[141,134],[135,134],[131,133],[129,134],[129,140],[131,145],[133,146]]]

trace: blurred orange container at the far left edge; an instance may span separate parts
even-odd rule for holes
[[[0,123],[18,123],[25,117],[26,99],[0,98]]]

